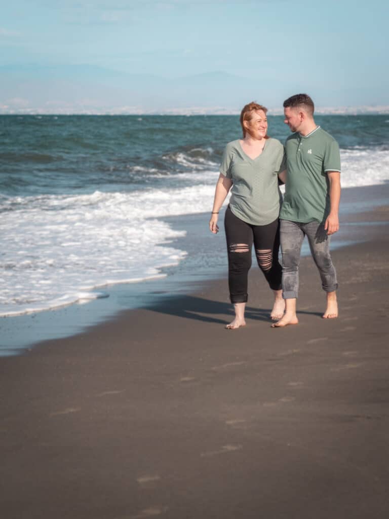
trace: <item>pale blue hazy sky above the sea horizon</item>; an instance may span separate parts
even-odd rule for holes
[[[0,0],[0,113],[389,111],[387,0]]]

